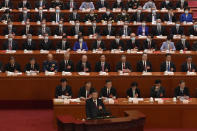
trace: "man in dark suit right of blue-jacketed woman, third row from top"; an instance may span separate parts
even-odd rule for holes
[[[161,24],[162,24],[161,19],[157,19],[156,26],[152,27],[152,34],[154,36],[160,36],[160,35],[166,36],[166,29]]]

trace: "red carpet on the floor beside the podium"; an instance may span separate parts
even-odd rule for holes
[[[0,110],[0,131],[56,131],[53,110]],[[197,131],[197,129],[145,129],[145,131]]]

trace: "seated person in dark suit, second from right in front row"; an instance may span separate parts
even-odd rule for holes
[[[161,86],[161,80],[155,80],[155,85],[151,88],[150,97],[152,98],[164,98],[165,88]]]

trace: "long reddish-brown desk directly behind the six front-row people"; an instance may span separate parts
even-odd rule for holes
[[[76,72],[71,76],[62,76],[61,73],[54,76],[45,76],[44,73],[40,73],[38,76],[26,76],[24,74],[21,76],[6,76],[5,73],[1,73],[0,101],[52,100],[55,96],[55,88],[60,83],[61,78],[68,80],[74,98],[78,97],[79,89],[86,81],[91,81],[93,87],[99,92],[105,85],[106,79],[112,80],[119,98],[126,97],[126,91],[131,82],[134,81],[139,84],[141,96],[150,97],[150,88],[156,79],[161,79],[166,90],[166,97],[174,96],[174,89],[178,86],[180,80],[186,81],[190,96],[196,97],[197,76],[187,76],[186,73],[180,72],[176,72],[173,76],[166,76],[160,72],[154,72],[151,76],[144,76],[137,72],[125,76],[116,72],[111,72],[108,76],[100,76],[95,72],[90,73],[89,76],[81,76]]]

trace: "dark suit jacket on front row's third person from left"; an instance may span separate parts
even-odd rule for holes
[[[101,89],[101,92],[100,92],[100,97],[107,97],[107,98],[110,98],[110,96],[115,96],[117,98],[117,92],[116,92],[116,89],[114,87],[111,87],[110,89],[110,93],[107,94],[107,87],[103,87]]]

